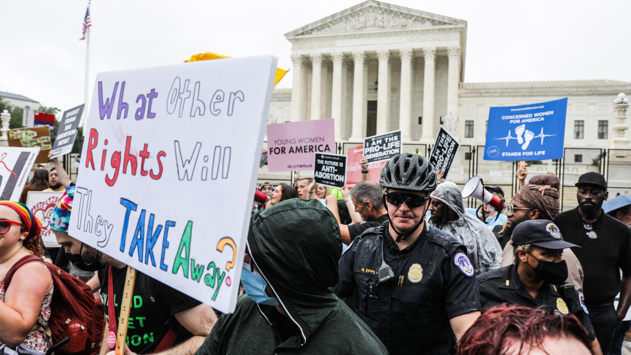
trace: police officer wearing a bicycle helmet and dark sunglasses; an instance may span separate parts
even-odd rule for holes
[[[357,290],[358,313],[392,354],[447,354],[480,316],[466,248],[423,217],[437,177],[425,157],[403,153],[381,171],[388,219],[339,260],[333,291]]]

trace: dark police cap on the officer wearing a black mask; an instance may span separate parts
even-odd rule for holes
[[[564,249],[577,246],[564,241],[557,225],[547,219],[531,219],[517,224],[510,240],[515,247],[526,244],[548,249]]]

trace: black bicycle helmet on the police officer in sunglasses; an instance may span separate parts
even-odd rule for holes
[[[429,160],[412,153],[401,153],[388,160],[379,178],[379,184],[384,188],[427,193],[436,190],[437,183],[438,178]]]

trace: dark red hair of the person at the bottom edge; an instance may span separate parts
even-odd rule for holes
[[[482,313],[460,338],[456,354],[504,354],[511,340],[519,342],[516,354],[521,354],[524,348],[541,348],[545,337],[572,337],[593,354],[585,328],[574,315],[555,315],[544,308],[507,303]]]

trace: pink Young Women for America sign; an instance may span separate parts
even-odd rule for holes
[[[268,171],[314,169],[314,153],[334,153],[334,119],[268,124]]]

